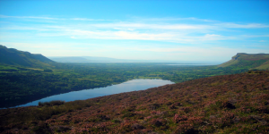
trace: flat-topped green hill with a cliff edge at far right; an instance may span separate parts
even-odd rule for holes
[[[269,69],[269,54],[246,54],[238,53],[226,63],[221,63],[219,67],[237,67],[257,70]]]

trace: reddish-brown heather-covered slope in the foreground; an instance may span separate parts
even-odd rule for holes
[[[269,71],[0,110],[2,133],[267,133]]]

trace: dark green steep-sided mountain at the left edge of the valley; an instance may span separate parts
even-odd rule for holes
[[[0,45],[0,63],[27,67],[48,67],[55,62],[42,54],[30,54]]]

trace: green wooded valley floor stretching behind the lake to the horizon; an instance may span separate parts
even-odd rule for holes
[[[161,79],[178,83],[248,71],[238,67],[168,64],[171,63],[54,63],[47,69],[1,64],[0,107],[22,105],[74,90],[107,87],[127,80]]]

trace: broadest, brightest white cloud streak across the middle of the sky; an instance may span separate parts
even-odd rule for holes
[[[72,38],[102,38],[102,39],[131,39],[131,40],[159,40],[178,43],[197,43],[210,40],[225,40],[235,39],[231,37],[224,37],[221,35],[205,34],[204,36],[187,36],[185,34],[169,32],[169,33],[140,33],[136,31],[91,31],[81,29],[66,29]],[[50,35],[49,36],[53,36]]]

